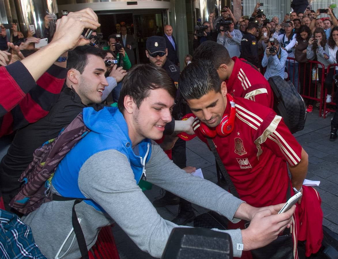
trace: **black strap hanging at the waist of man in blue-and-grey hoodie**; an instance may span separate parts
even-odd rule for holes
[[[77,244],[79,245],[81,257],[83,259],[89,259],[86,239],[84,239],[84,235],[83,235],[83,232],[82,232],[80,223],[77,219],[77,214],[75,211],[75,205],[82,202],[83,199],[66,198],[66,197],[62,197],[62,196],[59,196],[53,193],[53,201],[74,201],[73,208],[72,208],[72,225],[73,225],[74,233],[76,236]]]

